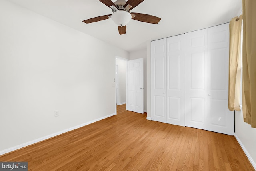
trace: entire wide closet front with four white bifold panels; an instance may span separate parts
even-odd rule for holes
[[[151,42],[151,118],[234,135],[229,24]]]

